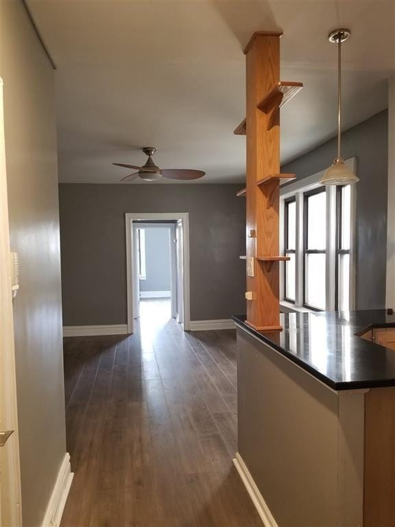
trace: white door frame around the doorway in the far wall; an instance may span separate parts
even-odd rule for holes
[[[183,323],[182,329],[189,329],[190,305],[189,305],[189,213],[187,212],[152,212],[152,213],[125,213],[126,226],[126,281],[128,293],[128,333],[134,331],[134,309],[133,309],[133,266],[134,266],[134,243],[133,222],[182,220],[182,252],[183,252]]]

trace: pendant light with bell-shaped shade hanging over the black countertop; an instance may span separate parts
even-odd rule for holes
[[[342,123],[342,42],[350,36],[350,30],[340,29],[332,31],[329,35],[329,42],[337,44],[337,157],[332,165],[322,176],[322,185],[350,185],[357,183],[359,178],[352,172],[350,167],[344,163],[340,154],[340,135]]]

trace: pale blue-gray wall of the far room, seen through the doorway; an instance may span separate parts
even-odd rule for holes
[[[170,232],[160,227],[145,228],[145,272],[140,291],[170,291]]]

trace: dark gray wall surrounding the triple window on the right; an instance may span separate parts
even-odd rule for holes
[[[331,139],[281,167],[298,179],[320,172],[336,154]],[[344,159],[357,157],[357,309],[385,307],[387,254],[387,110],[342,134]]]

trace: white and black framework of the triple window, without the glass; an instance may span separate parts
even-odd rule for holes
[[[345,163],[356,173],[356,159],[347,159]],[[294,198],[296,200],[296,301],[289,301],[285,297],[285,262],[280,265],[280,303],[284,307],[296,309],[304,312],[317,312],[314,306],[306,305],[305,298],[305,242],[304,242],[304,194],[326,191],[326,251],[319,250],[320,253],[326,253],[326,306],[325,311],[335,311],[339,305],[339,285],[338,285],[338,249],[342,251],[339,244],[339,218],[338,211],[338,187],[320,185],[320,178],[324,171],[313,174],[302,180],[296,180],[280,187],[280,254],[285,255],[285,202]],[[345,252],[350,254],[350,272],[349,272],[349,309],[355,309],[355,211],[357,200],[357,185],[350,185],[350,250]],[[311,250],[311,252],[316,252]]]

